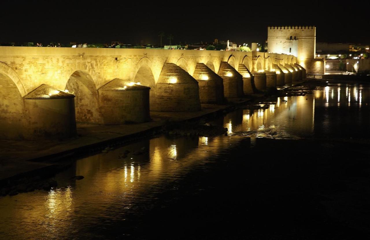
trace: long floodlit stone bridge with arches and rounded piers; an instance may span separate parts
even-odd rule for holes
[[[302,77],[296,57],[257,51],[0,47],[0,139],[144,122],[149,109],[197,111]]]

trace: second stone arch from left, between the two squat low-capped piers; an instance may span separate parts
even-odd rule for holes
[[[74,105],[77,123],[100,123],[99,96],[95,81],[86,71],[74,71],[65,90],[75,95]]]

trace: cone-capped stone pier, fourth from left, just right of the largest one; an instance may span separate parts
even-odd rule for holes
[[[204,63],[197,63],[193,77],[198,81],[199,99],[201,103],[222,103],[223,79],[213,72]]]

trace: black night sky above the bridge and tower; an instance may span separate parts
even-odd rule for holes
[[[158,32],[172,33],[172,43],[230,40],[261,42],[267,26],[315,25],[316,41],[369,44],[369,4],[339,6],[340,1],[244,1],[225,4],[189,1],[151,4],[120,1],[2,1],[0,43],[50,41],[127,44],[159,43]],[[132,1],[134,2],[134,1]],[[168,44],[167,36],[163,43]]]

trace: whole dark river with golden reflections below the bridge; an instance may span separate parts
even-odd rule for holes
[[[370,190],[351,183],[369,176],[369,152],[350,142],[369,140],[369,90],[328,85],[209,122],[228,136],[160,135],[79,159],[54,190],[0,197],[0,239],[365,236]]]

